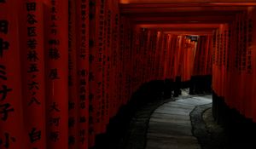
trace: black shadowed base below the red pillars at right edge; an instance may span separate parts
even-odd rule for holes
[[[224,127],[229,148],[256,148],[256,123],[231,109],[222,97],[212,94],[212,116]]]

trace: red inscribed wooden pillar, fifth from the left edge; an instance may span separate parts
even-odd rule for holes
[[[89,0],[77,1],[79,148],[88,147],[89,128]]]

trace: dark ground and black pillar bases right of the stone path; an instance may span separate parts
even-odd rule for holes
[[[212,94],[212,104],[196,106],[190,113],[193,134],[202,149],[254,149],[256,123],[230,109]]]

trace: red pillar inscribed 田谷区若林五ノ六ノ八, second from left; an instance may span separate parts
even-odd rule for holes
[[[28,148],[45,148],[45,90],[44,90],[44,21],[43,5],[35,0],[22,3],[26,24],[20,25],[20,46],[24,90],[24,116],[26,119],[26,143]],[[23,29],[24,28],[24,29]]]

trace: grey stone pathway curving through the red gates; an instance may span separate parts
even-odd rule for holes
[[[189,96],[183,92],[175,101],[159,106],[149,120],[146,149],[201,148],[192,135],[189,113],[195,106],[211,102],[211,95]]]

